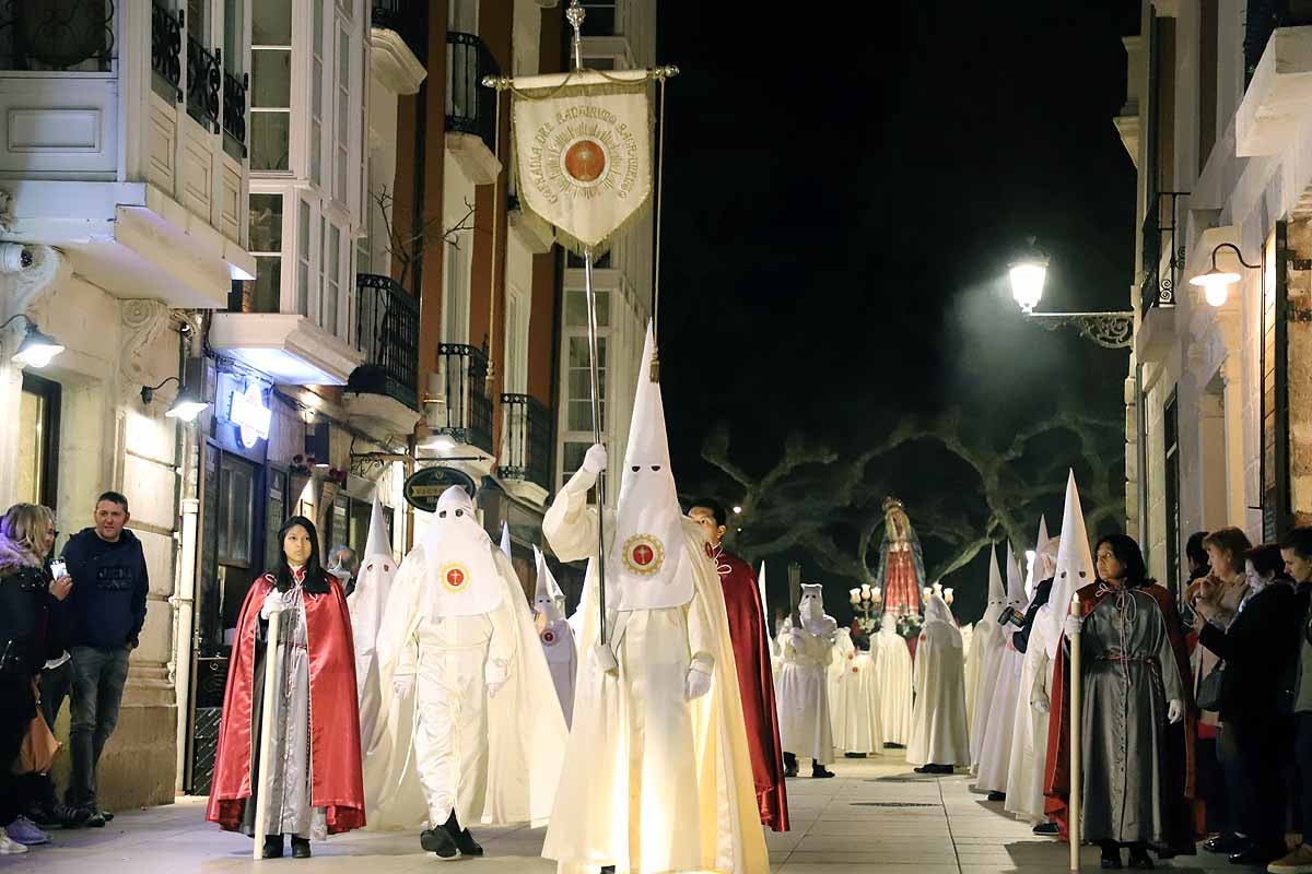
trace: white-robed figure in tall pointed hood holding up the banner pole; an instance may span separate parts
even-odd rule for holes
[[[769,867],[729,641],[706,537],[680,510],[651,328],[614,519],[605,519],[605,638],[597,562],[584,580],[573,726],[542,854],[562,874]],[[562,561],[596,554],[588,491],[601,444],[542,523]]]

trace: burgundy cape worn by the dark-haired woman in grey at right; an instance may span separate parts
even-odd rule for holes
[[[1194,723],[1198,718],[1194,701],[1190,693],[1193,684],[1189,681],[1189,649],[1185,634],[1181,629],[1179,612],[1176,603],[1165,588],[1157,584],[1140,587],[1141,592],[1152,596],[1161,608],[1166,624],[1166,636],[1170,638],[1170,647],[1176,654],[1176,666],[1179,668],[1185,694],[1185,718],[1181,725],[1172,726],[1170,747],[1165,751],[1164,761],[1169,773],[1162,774],[1162,798],[1174,803],[1166,806],[1164,814],[1169,818],[1168,826],[1172,833],[1172,846],[1168,852],[1161,852],[1162,858],[1176,854],[1194,854],[1194,839],[1197,837],[1193,815],[1194,798]],[[1082,587],[1080,595],[1080,616],[1088,616],[1106,598],[1098,594],[1098,583]],[[1067,840],[1067,807],[1071,798],[1071,676],[1068,667],[1067,646],[1057,647],[1057,656],[1052,660],[1052,717],[1048,719],[1048,757],[1044,763],[1043,788],[1046,799],[1044,812],[1055,822],[1061,832],[1061,840]],[[1178,801],[1177,801],[1178,799]]]

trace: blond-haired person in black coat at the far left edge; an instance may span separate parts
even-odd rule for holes
[[[46,626],[50,608],[68,596],[70,579],[50,578],[45,557],[54,542],[47,508],[17,503],[0,519],[0,828],[10,826],[33,801],[38,780],[13,767],[37,715],[34,680],[51,656]],[[22,852],[0,831],[0,852]]]

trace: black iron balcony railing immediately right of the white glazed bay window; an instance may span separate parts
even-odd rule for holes
[[[391,276],[356,276],[356,335],[365,363],[346,387],[386,394],[419,411],[419,300]]]

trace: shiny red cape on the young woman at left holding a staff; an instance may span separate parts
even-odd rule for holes
[[[356,649],[341,584],[329,574],[328,591],[307,591],[306,637],[310,649],[310,768],[311,803],[325,807],[328,833],[365,824],[365,782],[361,776],[359,712],[356,700]],[[239,831],[251,798],[251,714],[256,671],[256,630],[260,608],[273,591],[265,574],[251,586],[228,667],[223,722],[214,761],[214,785],[205,818]]]

